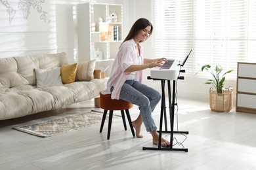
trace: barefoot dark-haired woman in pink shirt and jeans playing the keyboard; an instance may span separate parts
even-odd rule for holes
[[[152,34],[153,25],[146,18],[137,20],[129,34],[119,47],[114,60],[112,73],[107,88],[103,94],[111,93],[112,99],[123,99],[139,106],[140,115],[133,121],[136,136],[142,138],[140,127],[142,122],[153,138],[153,144],[158,144],[159,135],[152,117],[152,112],[161,99],[161,94],[142,84],[142,70],[161,66],[165,58],[143,58],[143,48],[140,42],[146,41]],[[161,139],[161,146],[169,146],[169,141]]]

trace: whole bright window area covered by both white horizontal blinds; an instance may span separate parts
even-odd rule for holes
[[[193,46],[186,76],[206,76],[200,66],[209,63],[234,69],[228,75],[234,80],[238,61],[256,59],[256,0],[153,3],[155,55],[182,59]]]

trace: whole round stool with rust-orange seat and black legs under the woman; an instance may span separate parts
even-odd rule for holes
[[[104,109],[101,126],[100,126],[100,133],[102,132],[102,129],[104,126],[106,114],[108,113],[108,110],[110,110],[110,114],[109,114],[109,118],[108,118],[108,139],[110,139],[113,111],[120,110],[121,116],[123,118],[123,126],[125,127],[125,130],[127,130],[126,122],[125,122],[125,112],[126,112],[126,116],[127,116],[129,125],[131,127],[131,133],[133,133],[133,137],[135,137],[135,132],[134,132],[133,126],[131,124],[131,116],[129,113],[129,109],[131,109],[132,107],[133,107],[132,103],[129,103],[129,102],[121,100],[121,99],[119,99],[119,100],[111,99],[110,94],[104,95],[104,94],[100,93],[100,108]],[[125,110],[125,112],[123,110]]]

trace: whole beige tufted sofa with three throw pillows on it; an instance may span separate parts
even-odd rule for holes
[[[107,80],[94,78],[95,63],[68,63],[64,52],[0,58],[0,120],[97,97]]]

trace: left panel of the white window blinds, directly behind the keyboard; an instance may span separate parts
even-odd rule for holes
[[[184,58],[193,44],[193,2],[154,1],[154,17],[156,56]],[[191,62],[186,66],[191,69]]]

